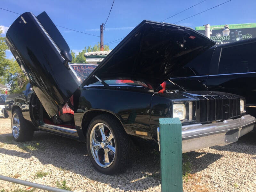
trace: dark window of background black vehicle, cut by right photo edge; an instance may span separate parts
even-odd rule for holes
[[[251,43],[222,49],[219,74],[255,72],[255,46]]]

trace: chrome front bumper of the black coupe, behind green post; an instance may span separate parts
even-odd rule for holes
[[[211,124],[191,124],[182,126],[182,153],[215,145],[228,145],[253,130],[256,119],[245,115],[237,119],[228,119]],[[157,140],[160,150],[160,130],[157,128]]]

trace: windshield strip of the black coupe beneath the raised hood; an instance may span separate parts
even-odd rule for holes
[[[146,84],[144,82],[141,81],[132,81],[132,80],[127,80],[127,79],[117,79],[117,80],[106,80],[105,81],[106,84],[108,84],[109,86],[136,86],[136,87],[146,87],[146,88],[151,88],[151,85]],[[90,84],[89,86],[102,86],[102,84],[97,81],[96,83]]]

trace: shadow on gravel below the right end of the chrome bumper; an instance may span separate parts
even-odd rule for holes
[[[240,137],[235,143],[231,143],[226,146],[214,146],[211,148],[219,151],[256,155],[256,132],[247,133],[243,137]]]

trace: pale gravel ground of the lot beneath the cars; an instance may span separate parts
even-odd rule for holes
[[[184,192],[255,191],[255,133],[185,156],[191,174],[183,179]],[[73,191],[161,191],[159,170],[159,154],[142,148],[126,172],[103,175],[92,167],[84,143],[41,131],[34,133],[32,141],[17,143],[12,139],[11,121],[0,119],[0,174],[4,176],[52,187],[65,180]],[[0,180],[0,191],[26,188]]]

